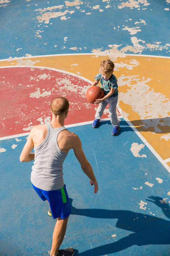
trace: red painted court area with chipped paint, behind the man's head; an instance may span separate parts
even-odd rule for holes
[[[0,69],[0,82],[1,137],[29,132],[34,125],[48,122],[51,100],[59,96],[70,103],[66,125],[94,119],[97,106],[85,97],[90,83],[78,76],[42,68],[11,67]],[[108,117],[107,110],[103,117]]]

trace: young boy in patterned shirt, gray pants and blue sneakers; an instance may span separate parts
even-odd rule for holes
[[[104,91],[104,97],[102,99],[97,99],[94,102],[95,104],[99,104],[99,106],[95,115],[95,120],[92,123],[92,127],[98,127],[103,111],[106,108],[107,104],[109,104],[110,120],[111,124],[114,126],[112,130],[112,135],[117,135],[119,133],[120,126],[116,114],[116,105],[118,100],[118,85],[116,76],[113,75],[114,67],[115,65],[113,61],[109,59],[103,60],[100,65],[101,73],[95,76],[96,81],[91,85],[97,85],[100,81],[101,88]]]

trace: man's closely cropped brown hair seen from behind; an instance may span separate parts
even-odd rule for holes
[[[51,102],[51,111],[54,115],[62,115],[69,109],[68,100],[64,97],[57,97]]]

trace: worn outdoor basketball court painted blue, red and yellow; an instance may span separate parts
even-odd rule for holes
[[[32,162],[19,156],[58,96],[69,100],[66,127],[99,184],[95,195],[71,150],[63,173],[72,214],[61,247],[81,256],[170,254],[169,4],[0,0],[0,255],[51,249],[56,221],[32,188]],[[107,58],[118,79],[118,136],[108,106],[91,127],[97,106],[85,98]]]

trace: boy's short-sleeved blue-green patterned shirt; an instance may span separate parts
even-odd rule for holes
[[[104,91],[104,95],[107,95],[109,91],[111,91],[111,88],[114,88],[115,91],[110,97],[118,96],[118,89],[117,89],[118,85],[117,85],[117,79],[115,75],[112,74],[112,76],[109,79],[105,80],[102,74],[99,73],[95,76],[95,80],[100,81],[101,88]]]

